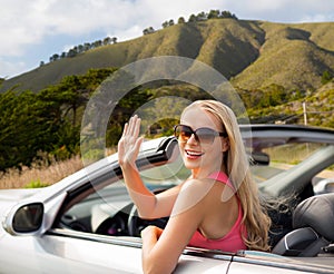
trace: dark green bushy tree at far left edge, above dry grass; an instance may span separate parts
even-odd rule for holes
[[[60,124],[50,106],[51,101],[42,102],[31,91],[0,95],[1,170],[30,166],[39,151],[52,149]]]

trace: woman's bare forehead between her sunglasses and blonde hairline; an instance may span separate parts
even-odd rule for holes
[[[199,107],[186,109],[180,117],[180,124],[190,126],[193,129],[199,127],[220,129],[222,127],[217,117]]]

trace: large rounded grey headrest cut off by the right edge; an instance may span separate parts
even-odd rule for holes
[[[327,241],[334,241],[334,193],[313,196],[297,205],[293,227],[307,226]]]

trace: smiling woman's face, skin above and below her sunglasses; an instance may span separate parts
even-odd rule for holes
[[[194,131],[203,127],[224,131],[218,119],[199,107],[187,109],[180,118],[180,124],[189,126]],[[212,144],[200,144],[193,134],[187,141],[179,141],[179,148],[185,166],[193,170],[193,175],[205,177],[222,169],[223,151],[228,149],[228,144],[227,138],[219,136],[215,137]]]

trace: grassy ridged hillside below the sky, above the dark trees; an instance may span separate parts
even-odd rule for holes
[[[143,58],[181,56],[216,68],[239,88],[276,84],[316,89],[324,71],[334,75],[334,22],[284,25],[210,19],[175,25],[129,41],[65,58],[6,80],[1,91],[38,91],[89,68],[122,67]]]

